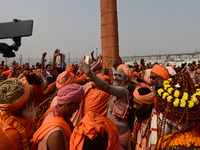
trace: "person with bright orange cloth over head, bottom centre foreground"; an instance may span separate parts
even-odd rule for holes
[[[70,150],[119,150],[119,133],[108,118],[91,111],[74,128]]]

